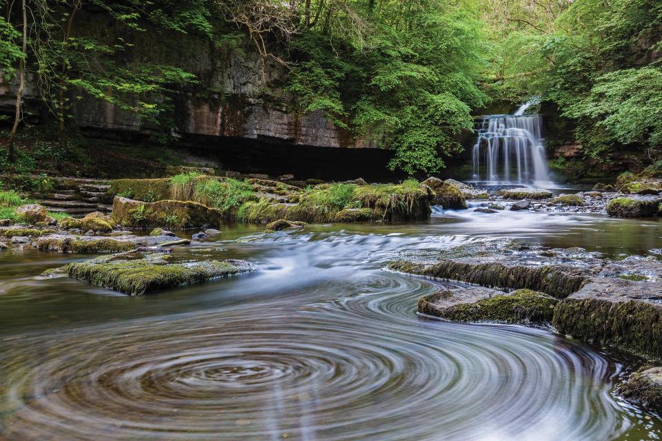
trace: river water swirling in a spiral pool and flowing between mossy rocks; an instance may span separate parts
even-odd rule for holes
[[[548,329],[417,316],[442,284],[383,269],[504,234],[646,253],[659,222],[488,217],[228,226],[174,253],[259,271],[138,298],[37,276],[89,256],[0,254],[0,440],[659,439],[657,416],[613,396],[619,357]]]

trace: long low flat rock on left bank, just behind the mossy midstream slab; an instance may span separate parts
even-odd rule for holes
[[[119,253],[139,247],[157,247],[170,243],[172,236],[74,236],[72,234],[50,234],[37,239],[41,251],[58,253]]]

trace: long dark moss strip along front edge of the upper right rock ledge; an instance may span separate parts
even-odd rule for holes
[[[499,263],[462,263],[442,260],[437,265],[425,266],[418,263],[398,261],[389,267],[421,276],[459,280],[484,287],[505,289],[533,289],[555,298],[565,298],[579,290],[588,278],[571,276],[553,267],[507,267]]]

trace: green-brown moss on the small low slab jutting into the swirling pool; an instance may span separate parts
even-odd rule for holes
[[[419,312],[460,322],[550,322],[556,298],[530,289],[485,298],[472,303],[437,307],[437,300],[451,300],[452,291],[441,291],[419,300]]]

